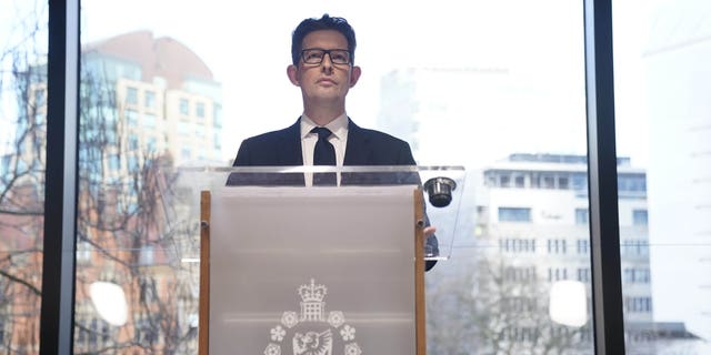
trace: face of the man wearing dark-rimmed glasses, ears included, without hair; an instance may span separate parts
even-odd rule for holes
[[[313,31],[303,39],[301,49],[348,51],[348,41],[338,31]],[[348,90],[356,85],[360,77],[360,68],[333,63],[331,54],[324,54],[321,63],[318,64],[306,63],[300,58],[299,64],[289,65],[287,72],[291,82],[301,88],[307,104],[320,102],[343,104]]]

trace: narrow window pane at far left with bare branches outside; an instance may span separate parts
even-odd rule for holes
[[[47,1],[0,2],[0,352],[40,342]]]

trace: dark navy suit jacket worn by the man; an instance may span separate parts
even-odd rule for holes
[[[263,133],[242,142],[234,166],[303,165],[300,120],[283,130]],[[410,145],[390,134],[367,130],[348,120],[348,142],[343,165],[415,165]],[[257,183],[256,183],[257,181]],[[304,185],[303,174],[230,174],[228,185]],[[417,173],[377,173],[341,175],[341,185],[420,184]],[[428,247],[438,250],[437,239],[429,237]],[[425,270],[435,262],[428,261]]]

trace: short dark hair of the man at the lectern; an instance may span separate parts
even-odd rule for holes
[[[356,31],[343,18],[332,18],[324,13],[320,19],[306,19],[299,23],[291,34],[291,60],[294,65],[299,64],[301,58],[301,45],[307,34],[313,31],[334,30],[339,31],[348,41],[348,51],[351,53],[351,64],[356,59]],[[326,48],[330,49],[330,48]]]

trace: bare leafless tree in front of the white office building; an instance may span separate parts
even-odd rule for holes
[[[469,253],[468,253],[469,254]],[[458,255],[428,277],[428,347],[433,354],[587,354],[589,327],[548,316],[550,284],[534,264],[502,254]],[[581,342],[581,339],[587,339]]]

